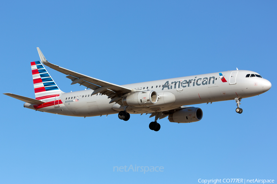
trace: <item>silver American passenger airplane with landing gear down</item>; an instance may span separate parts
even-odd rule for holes
[[[168,117],[170,122],[190,123],[200,121],[203,111],[186,105],[234,100],[237,113],[242,98],[253,97],[268,91],[271,82],[254,71],[232,70],[216,73],[116,85],[59,67],[46,60],[37,47],[40,61],[31,62],[35,99],[4,93],[19,99],[24,107],[65,116],[92,117],[117,114],[123,121],[130,114],[151,114],[155,121],[149,128],[159,131],[158,119]],[[85,86],[86,90],[65,93],[46,71],[46,65],[66,74],[72,84]]]

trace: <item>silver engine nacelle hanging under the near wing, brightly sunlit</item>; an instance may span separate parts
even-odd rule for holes
[[[158,94],[156,91],[140,91],[122,98],[123,105],[134,107],[149,106],[157,103]]]

